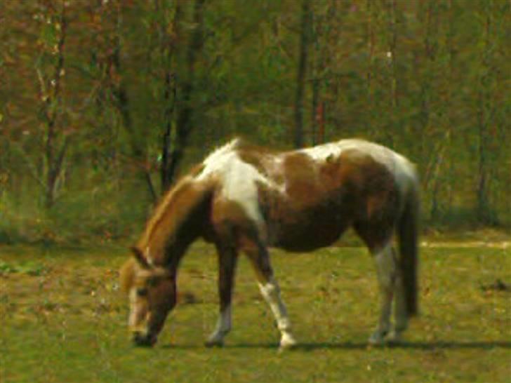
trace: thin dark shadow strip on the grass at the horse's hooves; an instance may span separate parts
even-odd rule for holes
[[[163,344],[163,349],[201,349],[206,347],[201,344]],[[241,343],[226,344],[225,349],[278,349],[277,343]],[[321,349],[418,349],[418,350],[437,350],[437,349],[511,349],[511,342],[505,341],[477,341],[477,342],[401,342],[399,344],[386,344],[384,346],[372,346],[367,342],[319,342],[319,343],[300,343],[293,350],[314,351]]]

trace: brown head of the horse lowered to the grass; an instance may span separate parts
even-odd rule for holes
[[[149,264],[138,248],[121,269],[121,285],[129,295],[129,328],[138,346],[157,341],[167,314],[175,306],[175,274]]]

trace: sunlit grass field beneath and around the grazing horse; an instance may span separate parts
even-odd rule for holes
[[[223,349],[203,346],[217,295],[202,243],[185,257],[158,344],[140,349],[117,284],[124,248],[0,247],[0,382],[511,382],[511,248],[434,245],[421,250],[421,315],[396,347],[366,343],[378,290],[364,248],[274,251],[300,342],[284,354],[244,258]]]

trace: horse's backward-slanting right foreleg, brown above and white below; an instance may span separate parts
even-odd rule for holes
[[[264,246],[258,246],[258,248],[246,250],[246,253],[255,269],[260,292],[270,305],[277,321],[277,327],[281,332],[280,348],[291,348],[296,344],[296,340],[291,332],[291,322],[289,321],[286,305],[280,296],[279,283],[273,275],[267,249]]]

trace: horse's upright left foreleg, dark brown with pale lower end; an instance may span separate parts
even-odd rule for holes
[[[231,330],[231,300],[234,285],[234,270],[237,251],[234,248],[218,249],[218,295],[220,295],[220,315],[215,330],[206,341],[207,347],[223,345],[223,339]]]

